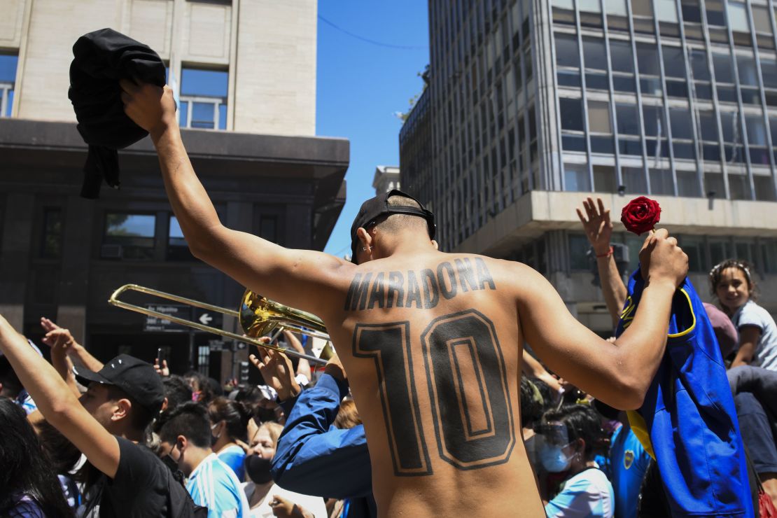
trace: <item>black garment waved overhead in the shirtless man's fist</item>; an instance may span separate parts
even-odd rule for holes
[[[165,64],[150,47],[101,29],[73,45],[68,97],[78,119],[78,133],[89,144],[81,196],[96,198],[103,178],[119,188],[119,158],[123,149],[148,133],[124,113],[119,79],[165,85]]]

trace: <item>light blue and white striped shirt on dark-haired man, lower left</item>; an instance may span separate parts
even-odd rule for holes
[[[203,459],[186,481],[186,491],[198,506],[207,507],[208,518],[248,518],[249,505],[232,468],[216,454]]]

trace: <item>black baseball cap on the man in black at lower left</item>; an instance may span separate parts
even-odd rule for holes
[[[159,374],[150,363],[128,354],[120,354],[107,362],[99,372],[73,369],[75,375],[85,381],[114,385],[124,391],[138,405],[156,415],[165,400],[165,388]]]

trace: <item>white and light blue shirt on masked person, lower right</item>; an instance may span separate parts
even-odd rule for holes
[[[553,518],[611,518],[615,495],[604,471],[588,468],[564,482],[564,488],[545,506]]]

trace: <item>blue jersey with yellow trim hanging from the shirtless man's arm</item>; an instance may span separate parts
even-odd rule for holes
[[[644,287],[637,269],[615,335],[631,324]],[[664,359],[629,422],[656,459],[673,516],[753,516],[726,367],[687,278],[672,301]]]

